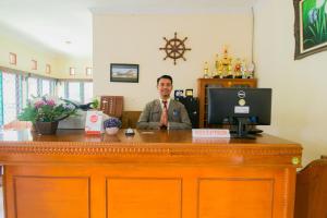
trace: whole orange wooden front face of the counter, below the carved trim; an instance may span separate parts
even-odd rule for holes
[[[294,181],[287,178],[294,173],[276,166],[12,166],[7,218],[291,218]]]

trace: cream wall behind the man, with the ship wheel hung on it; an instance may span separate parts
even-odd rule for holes
[[[251,58],[252,16],[242,14],[157,14],[110,15],[94,14],[94,92],[95,95],[124,96],[124,110],[142,110],[145,104],[157,98],[156,78],[170,74],[174,88],[193,88],[203,75],[203,64],[209,61],[214,68],[215,53],[221,53],[223,45],[230,46],[234,57]],[[172,38],[174,32],[191,51],[186,61],[171,59],[159,47],[162,37]],[[140,83],[110,83],[110,63],[140,64]]]

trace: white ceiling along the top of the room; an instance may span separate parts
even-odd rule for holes
[[[90,58],[93,13],[217,13],[257,0],[0,0],[0,34],[46,50]],[[68,44],[66,41],[71,41]]]

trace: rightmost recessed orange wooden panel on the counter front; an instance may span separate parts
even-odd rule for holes
[[[272,217],[272,179],[201,179],[198,192],[199,218]]]

